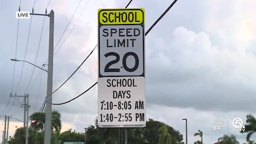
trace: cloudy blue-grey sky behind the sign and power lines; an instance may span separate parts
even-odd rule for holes
[[[0,1],[0,134],[4,129],[3,115],[23,119],[22,98],[10,98],[10,93],[29,94],[30,114],[40,110],[46,96],[47,73],[38,68],[33,72],[33,66],[22,62],[16,62],[14,70],[14,61],[10,59],[25,59],[40,67],[45,63],[49,18],[45,21],[42,16],[20,19],[17,43],[15,12],[20,4],[21,11],[31,12],[34,5],[35,13],[45,13],[48,2]],[[79,2],[51,0],[47,7],[47,13],[55,12],[54,53],[57,53],[54,55],[53,90],[66,81],[98,43],[98,9],[124,8],[129,1],[82,0],[74,13]],[[147,30],[171,3],[134,0],[129,7],[145,9]],[[255,5],[253,0],[178,0],[146,36],[147,118],[174,127],[184,139],[185,121],[181,119],[187,118],[188,143],[199,140],[194,137],[198,129],[204,133],[204,143],[217,142],[223,134],[234,134],[239,142],[245,142],[246,134],[233,132],[231,122],[240,117],[245,123],[246,114],[256,116]],[[53,103],[68,101],[97,82],[97,51],[53,94]],[[84,132],[85,127],[94,124],[97,89],[94,86],[66,105],[53,106],[62,114],[62,131]],[[223,119],[221,131],[213,131],[213,119]],[[15,126],[22,125],[11,119],[9,135],[14,134]],[[251,139],[255,140],[256,135]]]

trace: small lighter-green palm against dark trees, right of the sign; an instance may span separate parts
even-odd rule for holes
[[[168,132],[167,125],[163,125],[158,129],[161,132],[160,137],[158,139],[158,144],[171,144],[171,135]]]

